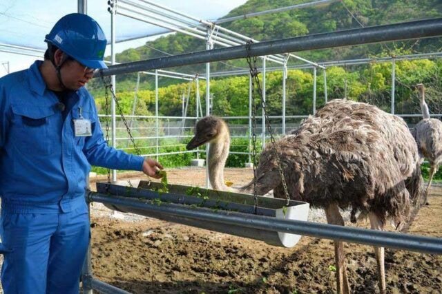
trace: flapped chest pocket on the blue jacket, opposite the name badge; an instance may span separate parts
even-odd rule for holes
[[[54,126],[54,107],[35,105],[11,105],[11,138],[15,147],[30,154],[49,155],[55,142],[51,140],[50,128]]]

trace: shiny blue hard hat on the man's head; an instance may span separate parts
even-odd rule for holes
[[[71,13],[61,17],[44,41],[87,67],[107,68],[103,61],[106,36],[97,21],[86,14]]]

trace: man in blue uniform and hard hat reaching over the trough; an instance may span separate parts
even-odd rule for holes
[[[1,271],[9,293],[79,293],[90,237],[84,193],[90,165],[160,178],[155,160],[108,147],[84,85],[106,37],[84,14],[46,35],[44,61],[0,78]]]

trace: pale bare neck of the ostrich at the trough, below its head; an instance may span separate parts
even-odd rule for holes
[[[230,190],[224,183],[224,165],[229,156],[230,136],[225,134],[209,145],[208,165],[209,180],[213,189]]]

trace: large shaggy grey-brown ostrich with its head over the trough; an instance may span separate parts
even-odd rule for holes
[[[209,179],[214,189],[227,190],[223,169],[229,155],[229,129],[220,118],[207,116],[187,145],[209,143]],[[387,218],[396,226],[407,220],[419,196],[421,173],[416,143],[402,118],[365,103],[334,100],[299,129],[276,141],[289,197],[325,209],[329,224],[344,225],[339,208],[352,207],[369,216],[372,229],[382,230]],[[262,151],[256,170],[257,189],[273,189],[284,198],[272,145]],[[253,180],[239,191],[252,193]],[[338,293],[349,293],[343,242],[336,240]],[[375,247],[379,288],[385,293],[384,250]]]

